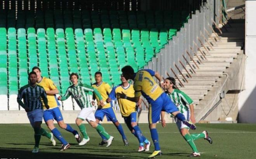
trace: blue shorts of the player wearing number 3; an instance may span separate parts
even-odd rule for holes
[[[161,96],[149,104],[149,123],[157,123],[160,120],[161,111],[167,113],[179,111],[166,93],[162,93]]]

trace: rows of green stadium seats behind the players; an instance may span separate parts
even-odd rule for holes
[[[3,14],[15,15],[12,10]],[[143,68],[189,18],[184,11],[56,9],[38,10],[36,19],[30,11],[19,14],[26,22],[11,16],[0,28],[0,99],[4,102],[7,95],[16,102],[17,90],[28,84],[28,72],[34,66],[54,81],[62,95],[72,72],[90,85],[95,82],[94,73],[101,71],[104,81],[117,85],[123,66],[129,64],[135,71]],[[15,102],[9,110],[18,109]]]

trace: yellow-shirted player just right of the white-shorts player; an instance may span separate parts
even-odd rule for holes
[[[102,73],[100,71],[96,72],[94,77],[95,77],[96,83],[93,83],[92,87],[97,89],[100,95],[102,96],[103,100],[106,101],[111,91],[111,87],[109,86],[109,84],[102,81]],[[97,105],[98,105],[98,108],[95,112],[96,122],[99,123],[100,121],[102,121],[104,116],[106,115],[107,121],[111,121],[114,123],[119,133],[122,135],[124,144],[127,146],[128,140],[126,139],[122,125],[116,119],[114,108],[111,106],[110,103],[106,103],[106,105],[101,107],[99,98],[93,95],[93,100],[95,100],[95,98],[97,100]],[[100,136],[102,137],[102,142],[100,142],[99,145],[107,144],[107,139],[101,134]]]

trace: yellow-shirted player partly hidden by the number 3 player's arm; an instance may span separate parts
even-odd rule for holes
[[[123,74],[121,75],[121,81],[122,84],[115,86],[109,94],[109,98],[107,99],[108,103],[111,102],[111,100],[116,100],[117,93],[123,92],[130,97],[134,97],[133,85],[130,85],[128,83]],[[137,124],[136,103],[122,98],[118,98],[117,101],[120,107],[120,112],[122,114],[122,117],[125,119],[125,123],[128,129],[133,135],[135,135],[135,137],[138,138],[140,144],[138,152],[149,151],[150,142],[145,136],[142,135],[142,132]]]

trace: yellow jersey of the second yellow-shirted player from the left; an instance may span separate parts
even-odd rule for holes
[[[109,96],[109,93],[111,92],[111,87],[109,86],[108,83],[101,81],[101,83],[99,85],[97,85],[96,83],[93,83],[92,87],[97,89],[97,91],[99,91],[99,93],[102,96],[102,99],[104,101],[107,100],[107,98]],[[107,103],[106,105],[104,105],[104,107],[101,107],[100,106],[100,100],[99,100],[98,96],[95,96],[95,98],[96,98],[97,105],[98,105],[99,108],[104,109],[104,108],[110,108],[111,107],[110,103]]]

